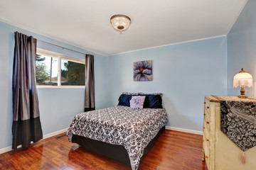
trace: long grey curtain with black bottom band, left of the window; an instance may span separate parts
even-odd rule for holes
[[[36,91],[36,39],[15,33],[12,77],[12,149],[27,148],[43,138]]]

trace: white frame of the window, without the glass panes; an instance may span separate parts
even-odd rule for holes
[[[70,57],[68,55],[63,55],[58,52],[52,52],[48,50],[43,50],[41,48],[36,49],[37,55],[45,55],[47,57],[55,57],[58,58],[58,85],[57,86],[42,86],[42,85],[36,85],[36,88],[38,89],[74,89],[74,88],[85,88],[85,86],[61,86],[61,60],[68,60],[70,62],[78,62],[80,64],[85,64],[85,59],[77,58],[77,57]]]

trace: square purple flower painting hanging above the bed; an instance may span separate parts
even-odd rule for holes
[[[152,80],[152,60],[134,62],[134,81]]]

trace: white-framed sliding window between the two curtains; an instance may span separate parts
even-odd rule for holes
[[[37,50],[37,86],[85,86],[85,60]]]

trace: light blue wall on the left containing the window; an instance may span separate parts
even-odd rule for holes
[[[107,57],[0,22],[0,149],[11,146],[12,140],[11,77],[14,58],[15,31],[26,35],[33,35],[34,38],[38,38],[39,40],[95,55],[96,108],[105,108],[109,106],[105,100],[105,89],[107,88],[107,74],[105,74],[105,70],[107,70]],[[59,47],[43,44],[43,42],[38,42],[38,47],[73,57],[85,58],[83,55],[79,55],[76,52],[70,52]],[[38,89],[43,135],[68,128],[74,115],[83,111],[84,94],[85,89],[83,88]]]

